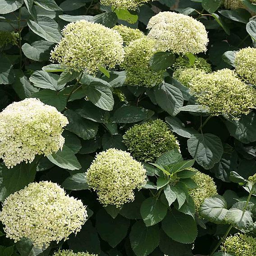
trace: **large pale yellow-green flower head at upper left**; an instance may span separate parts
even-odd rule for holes
[[[69,23],[51,59],[64,69],[95,73],[100,67],[114,68],[123,61],[123,39],[113,29],[86,20]]]

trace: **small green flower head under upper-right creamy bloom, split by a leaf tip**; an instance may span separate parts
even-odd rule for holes
[[[193,69],[200,69],[200,70],[204,71],[205,73],[211,73],[211,71],[212,71],[211,65],[210,65],[210,63],[208,63],[206,61],[206,59],[200,58],[197,56],[195,56],[195,58],[196,58],[195,63],[193,65],[191,65],[187,58],[178,57],[173,64],[174,70],[193,68]]]

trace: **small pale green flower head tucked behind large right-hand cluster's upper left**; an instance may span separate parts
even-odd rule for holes
[[[192,78],[204,73],[204,71],[194,68],[176,69],[173,73],[173,78],[181,82],[184,86],[189,87],[189,82]]]

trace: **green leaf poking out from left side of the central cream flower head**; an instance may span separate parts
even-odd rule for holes
[[[68,190],[83,190],[88,189],[89,186],[86,181],[85,173],[73,174],[70,177],[66,178],[61,184],[61,187],[64,187]]]

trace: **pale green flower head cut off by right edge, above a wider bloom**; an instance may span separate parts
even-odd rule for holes
[[[239,76],[256,85],[256,48],[239,50],[235,55],[235,66]]]

